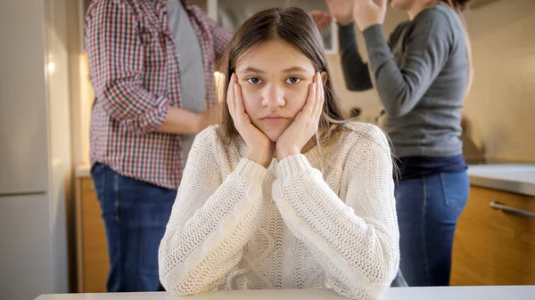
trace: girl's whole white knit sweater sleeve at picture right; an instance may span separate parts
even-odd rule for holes
[[[390,147],[383,132],[371,128],[348,138],[345,199],[301,154],[279,162],[273,185],[284,223],[322,266],[327,284],[354,299],[383,295],[399,268]]]

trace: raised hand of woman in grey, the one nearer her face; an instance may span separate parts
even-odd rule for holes
[[[378,2],[379,4],[375,4]],[[358,29],[364,29],[375,25],[383,24],[386,14],[387,0],[355,0],[353,4],[353,18]]]

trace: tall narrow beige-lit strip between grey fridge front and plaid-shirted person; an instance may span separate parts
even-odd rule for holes
[[[67,48],[67,2],[69,0],[44,1],[45,45],[47,54],[47,99],[48,133],[51,168],[50,219],[53,239],[53,290],[69,290],[69,262],[67,243],[73,245],[74,223],[68,218],[72,214],[72,164],[70,150],[70,88],[69,53]],[[70,233],[70,239],[67,235]],[[69,264],[70,263],[70,264]],[[73,269],[71,269],[72,272]]]

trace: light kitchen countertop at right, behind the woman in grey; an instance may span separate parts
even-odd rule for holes
[[[535,164],[468,166],[470,184],[535,196]]]

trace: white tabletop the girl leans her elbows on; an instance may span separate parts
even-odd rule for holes
[[[330,289],[216,291],[195,296],[169,293],[42,295],[36,300],[338,300]],[[390,288],[382,300],[533,300],[535,286]]]

